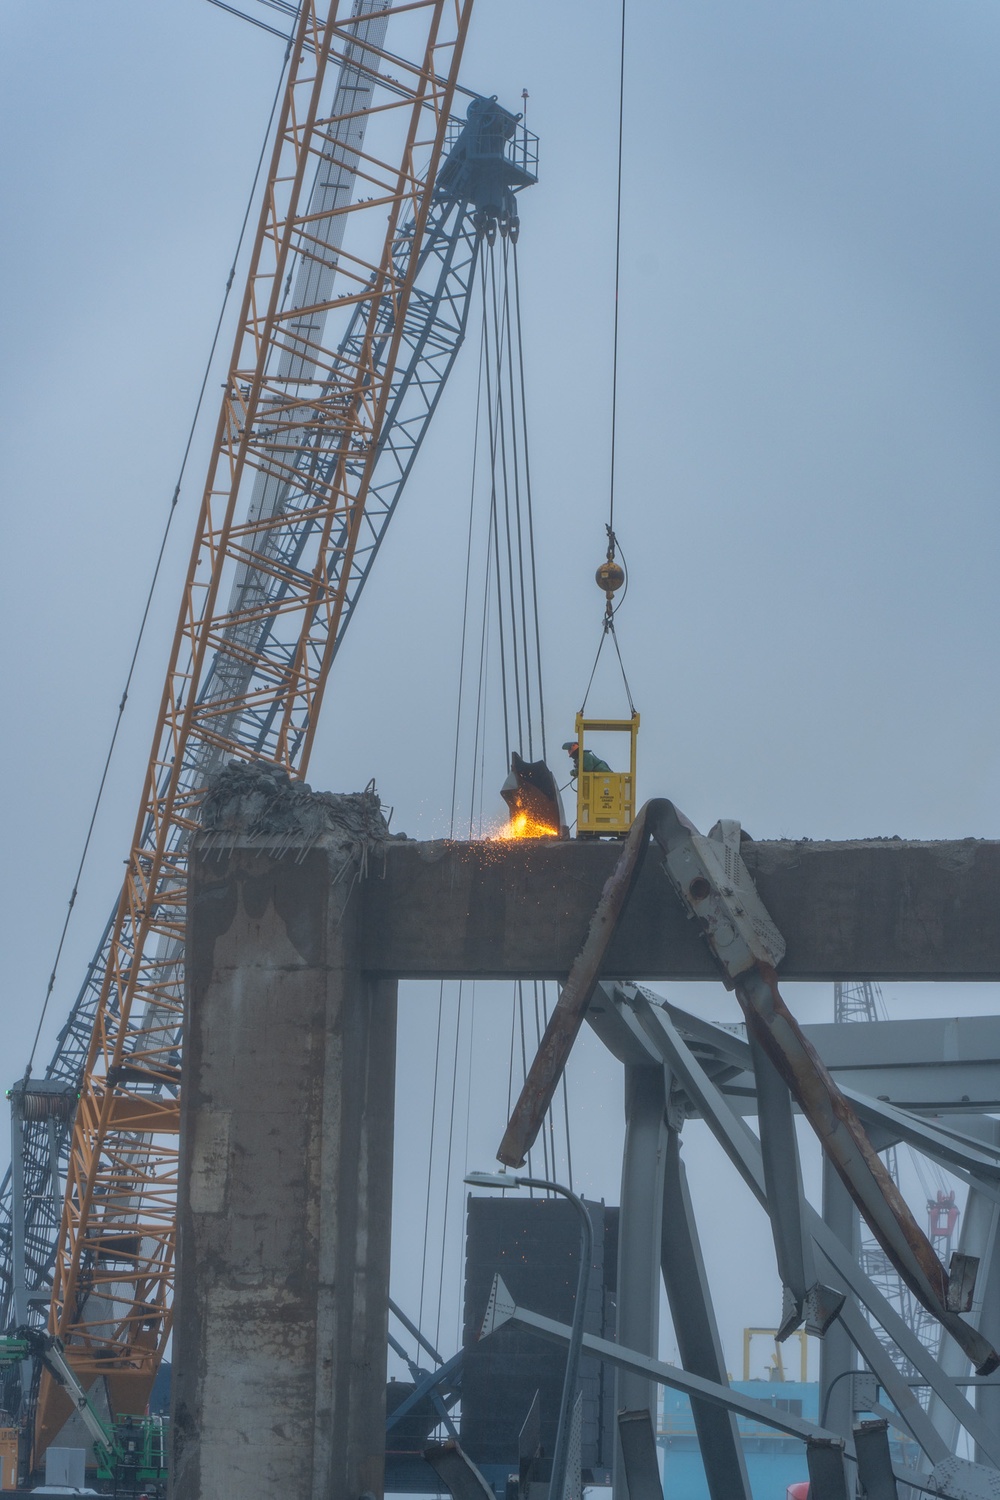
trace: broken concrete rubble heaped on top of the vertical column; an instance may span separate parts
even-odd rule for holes
[[[306,782],[273,765],[231,760],[208,782],[201,804],[201,846],[222,848],[232,836],[259,840],[276,855],[288,850],[303,860],[322,842],[343,867],[367,874],[369,855],[406,834],[390,834],[382,804],[369,782],[363,792],[313,792]]]

